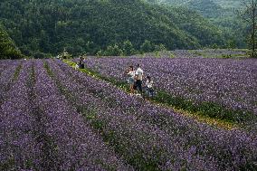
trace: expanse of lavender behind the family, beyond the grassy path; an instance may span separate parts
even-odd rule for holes
[[[257,113],[257,61],[224,59],[93,58],[86,66],[126,81],[129,65],[142,65],[157,90],[195,102],[213,101],[232,109]]]

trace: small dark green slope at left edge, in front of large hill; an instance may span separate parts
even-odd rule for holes
[[[5,31],[3,25],[0,24],[0,60],[1,59],[17,59],[21,58],[22,54],[15,46],[13,40]]]

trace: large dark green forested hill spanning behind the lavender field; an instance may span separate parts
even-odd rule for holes
[[[140,51],[146,40],[168,50],[227,44],[222,30],[200,14],[140,0],[2,0],[0,11],[1,23],[26,55],[64,48],[95,54],[114,44]]]

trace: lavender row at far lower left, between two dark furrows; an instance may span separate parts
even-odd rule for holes
[[[38,160],[40,147],[33,136],[32,104],[27,87],[31,64],[25,63],[17,81],[10,90],[5,90],[0,110],[1,170],[43,169]],[[10,80],[12,77],[8,75],[7,78]],[[8,81],[5,80],[5,83]]]

